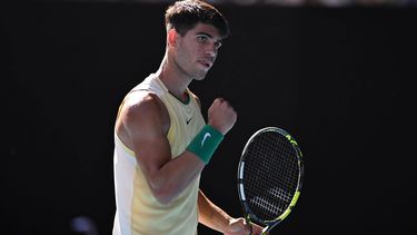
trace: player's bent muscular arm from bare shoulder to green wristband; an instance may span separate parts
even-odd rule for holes
[[[117,127],[135,151],[150,189],[160,203],[171,202],[201,173],[203,161],[190,151],[171,159],[167,139],[169,115],[157,96],[148,94],[127,101],[119,119]]]

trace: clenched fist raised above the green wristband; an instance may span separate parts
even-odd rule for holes
[[[208,110],[208,125],[226,135],[235,125],[237,114],[222,98],[217,98]]]

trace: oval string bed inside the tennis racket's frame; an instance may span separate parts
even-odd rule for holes
[[[282,214],[298,185],[298,160],[288,139],[264,133],[252,139],[245,154],[245,194],[252,213],[262,221]]]

